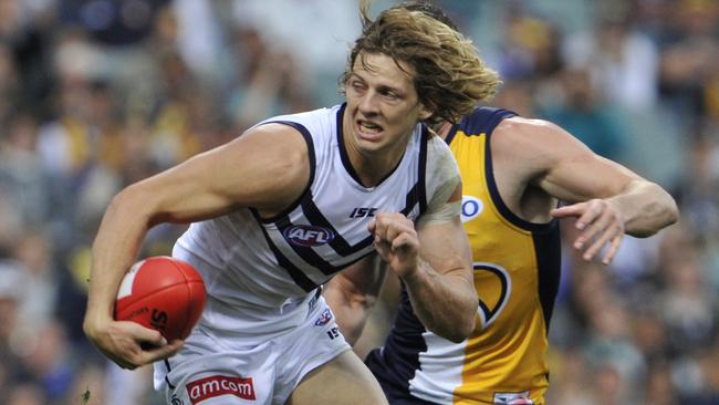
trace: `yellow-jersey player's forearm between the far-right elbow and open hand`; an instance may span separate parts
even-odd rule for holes
[[[649,237],[678,218],[674,198],[650,181],[634,180],[607,201],[619,209],[625,232],[634,237]]]

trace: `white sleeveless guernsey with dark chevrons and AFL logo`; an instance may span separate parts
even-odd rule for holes
[[[343,113],[337,105],[258,124],[282,123],[302,134],[308,188],[273,218],[240,209],[192,224],[177,241],[174,256],[195,264],[207,287],[205,328],[241,339],[299,325],[319,285],[375,251],[367,230],[375,212],[416,221],[438,188],[459,177],[445,142],[418,124],[398,166],[377,186],[362,186],[342,142]]]

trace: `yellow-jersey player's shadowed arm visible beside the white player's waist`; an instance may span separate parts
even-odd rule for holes
[[[351,345],[362,335],[386,273],[386,267],[373,255],[342,270],[325,285],[324,299]]]

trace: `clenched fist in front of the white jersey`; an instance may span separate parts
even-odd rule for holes
[[[399,277],[417,270],[419,238],[415,224],[399,212],[378,212],[368,229],[379,257]]]

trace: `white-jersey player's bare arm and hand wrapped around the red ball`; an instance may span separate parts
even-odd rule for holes
[[[165,342],[156,331],[112,318],[119,281],[136,261],[148,229],[212,218],[238,207],[271,215],[296,199],[308,179],[302,136],[271,124],[122,190],[105,211],[93,243],[83,324],[87,338],[125,368],[175,353],[181,342]],[[142,350],[142,342],[157,347]]]

